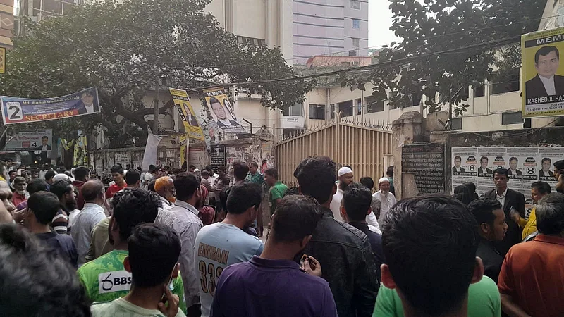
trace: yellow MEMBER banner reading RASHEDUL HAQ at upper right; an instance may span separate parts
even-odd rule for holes
[[[564,27],[521,36],[522,116],[564,115]]]

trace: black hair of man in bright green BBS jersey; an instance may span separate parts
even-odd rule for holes
[[[119,228],[121,240],[128,240],[131,231],[140,223],[153,223],[162,206],[159,195],[141,188],[124,188],[111,199],[112,218]]]

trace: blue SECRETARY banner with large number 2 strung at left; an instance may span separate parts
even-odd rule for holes
[[[0,104],[5,125],[71,118],[100,112],[96,87],[46,99],[1,96]]]

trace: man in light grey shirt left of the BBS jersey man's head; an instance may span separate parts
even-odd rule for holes
[[[95,225],[106,218],[104,214],[104,184],[99,180],[89,180],[80,189],[84,197],[84,208],[76,216],[71,236],[78,251],[78,266],[85,263],[90,247],[91,232]]]

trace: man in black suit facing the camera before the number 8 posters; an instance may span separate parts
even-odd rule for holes
[[[507,187],[509,180],[509,171],[505,168],[498,168],[494,172],[494,183],[496,189],[491,189],[484,195],[489,199],[496,199],[503,206],[505,218],[511,218],[511,210],[518,212],[522,218],[525,218],[525,196],[520,192]],[[503,241],[496,243],[496,249],[502,256],[505,256],[510,247],[521,242],[522,229],[513,220],[508,221],[509,228]]]

